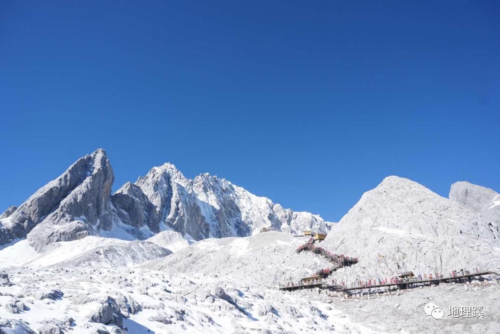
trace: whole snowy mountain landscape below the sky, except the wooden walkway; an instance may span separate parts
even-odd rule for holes
[[[296,252],[308,237],[293,234],[322,230],[319,216],[208,174],[187,179],[172,164],[114,194],[112,181],[98,150],[1,216],[0,333],[498,332],[497,285],[441,284],[370,299],[284,293],[277,282],[331,266]],[[449,197],[384,179],[328,227],[320,246],[359,258],[328,279],[498,268],[498,194],[457,183]],[[261,227],[282,232],[257,233]],[[424,319],[427,302],[479,300],[485,319]]]

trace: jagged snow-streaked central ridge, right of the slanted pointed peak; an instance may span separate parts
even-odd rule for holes
[[[289,233],[326,230],[317,215],[285,210],[208,173],[187,179],[172,164],[154,167],[136,185],[155,206],[160,223],[195,240],[249,236],[262,227]]]

